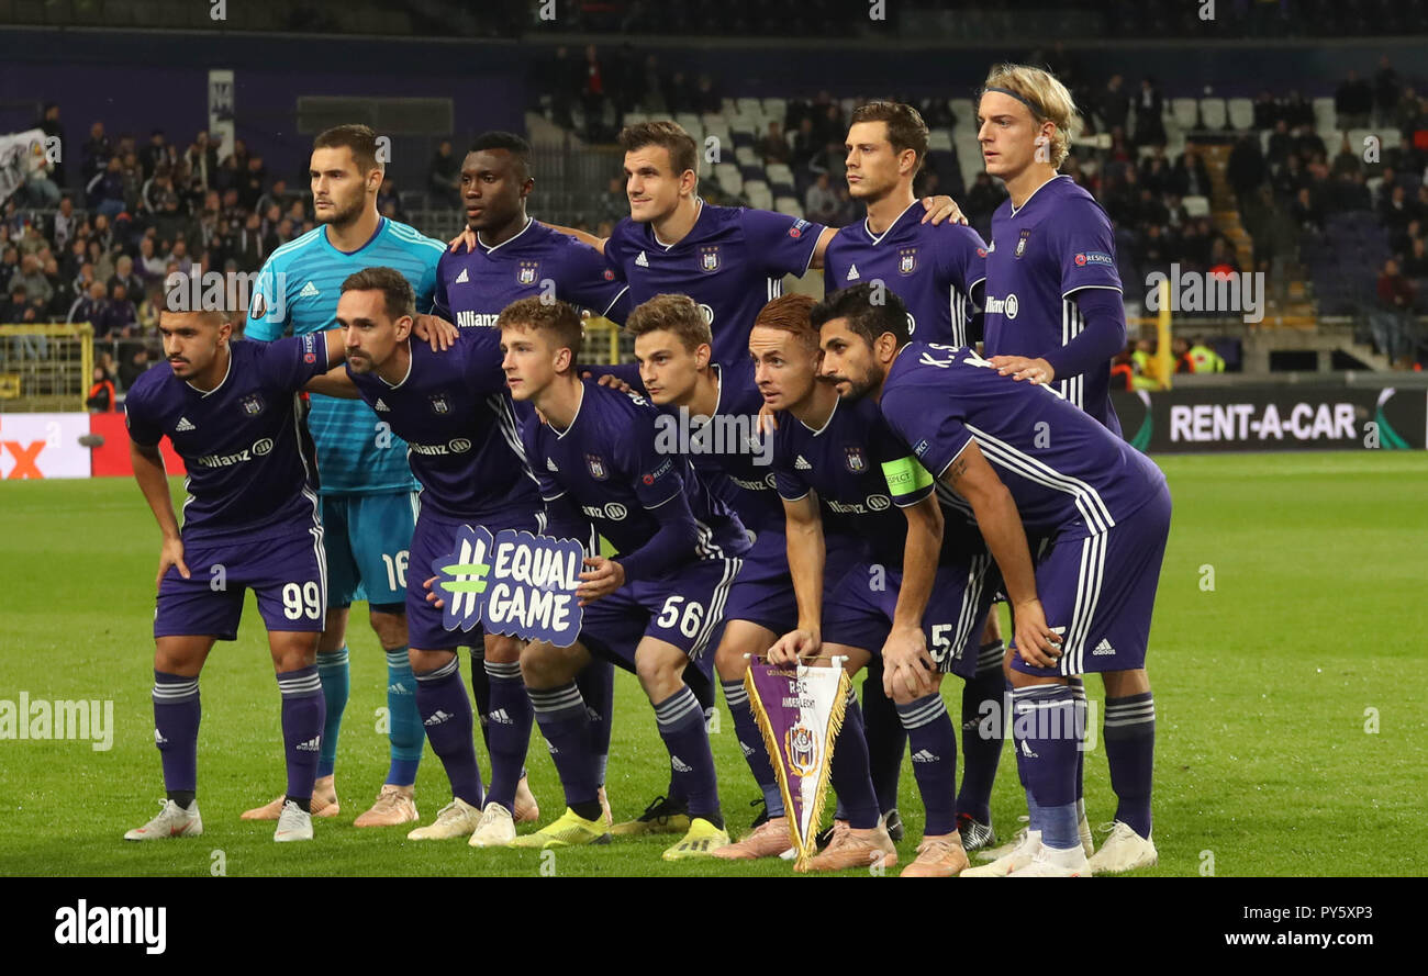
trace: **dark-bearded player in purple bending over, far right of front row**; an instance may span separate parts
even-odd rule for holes
[[[1060,392],[1001,377],[965,347],[911,342],[895,295],[874,303],[853,288],[831,305],[824,370],[877,400],[925,469],[967,499],[1012,604],[1012,731],[1031,828],[962,875],[1091,875],[1075,802],[1084,711],[1068,681],[1144,666],[1170,534],[1165,477]],[[1047,539],[1035,568],[1028,537]]]

